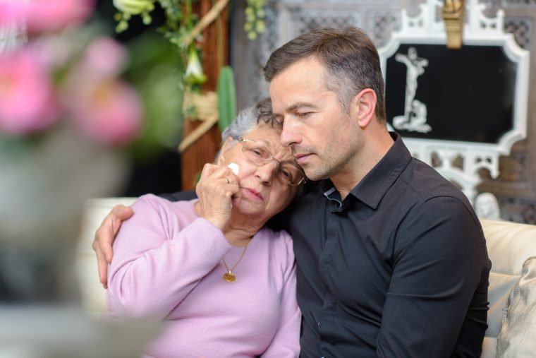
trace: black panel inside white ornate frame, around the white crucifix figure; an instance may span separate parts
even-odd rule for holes
[[[516,63],[499,46],[447,49],[443,44],[401,44],[386,62],[387,121],[404,114],[407,66],[396,54],[414,47],[427,59],[415,100],[426,105],[427,133],[395,129],[403,137],[497,143],[513,129]]]

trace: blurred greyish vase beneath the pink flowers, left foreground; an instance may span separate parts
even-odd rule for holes
[[[12,144],[0,137],[0,303],[75,301],[83,203],[113,195],[127,162],[65,126]]]

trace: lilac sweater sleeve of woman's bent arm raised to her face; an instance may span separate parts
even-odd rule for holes
[[[169,205],[142,196],[114,241],[108,304],[119,316],[163,319],[231,248],[205,219],[181,227]]]

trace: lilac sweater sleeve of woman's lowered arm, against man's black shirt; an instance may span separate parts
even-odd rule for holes
[[[297,358],[300,355],[301,312],[296,301],[296,261],[291,236],[284,231],[281,234],[286,246],[286,269],[283,273],[279,326],[262,358]]]

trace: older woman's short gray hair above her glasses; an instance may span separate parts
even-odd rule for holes
[[[221,133],[221,143],[224,143],[229,136],[234,140],[245,136],[260,123],[274,124],[272,101],[269,98],[264,98],[256,105],[240,111],[236,119]]]

